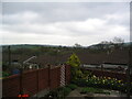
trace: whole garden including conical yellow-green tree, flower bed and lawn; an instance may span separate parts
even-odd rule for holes
[[[67,96],[76,90],[79,97],[90,97],[90,95],[106,95],[110,96],[118,94],[118,96],[127,95],[128,84],[123,80],[118,80],[111,77],[97,77],[88,70],[80,69],[80,61],[76,54],[73,54],[67,62],[72,66],[72,80],[69,85],[51,90],[45,99],[65,99]],[[132,82],[130,86],[132,95]],[[78,96],[77,96],[78,97]]]

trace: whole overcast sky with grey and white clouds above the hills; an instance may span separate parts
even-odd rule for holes
[[[82,46],[130,41],[129,2],[3,2],[1,44]]]

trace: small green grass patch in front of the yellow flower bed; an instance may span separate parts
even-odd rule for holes
[[[88,92],[110,95],[109,91],[94,87],[86,87],[80,89],[80,94],[88,94]]]

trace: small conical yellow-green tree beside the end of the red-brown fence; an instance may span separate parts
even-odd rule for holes
[[[72,66],[72,79],[77,79],[82,76],[80,61],[75,53],[68,58],[67,64]]]

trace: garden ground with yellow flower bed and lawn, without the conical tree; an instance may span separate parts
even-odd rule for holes
[[[96,77],[95,75],[88,79],[76,79],[72,80],[72,84],[66,85],[65,87],[59,87],[54,90],[51,90],[45,99],[65,99],[66,97],[70,97],[70,94],[76,90],[79,96],[77,97],[94,97],[94,95],[98,96],[123,96],[127,95],[127,82],[122,80],[118,80],[116,78],[110,77]],[[114,94],[113,94],[114,92]],[[131,85],[131,94],[132,94],[132,85]]]

